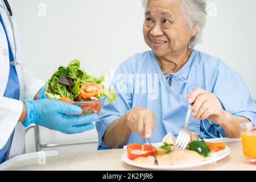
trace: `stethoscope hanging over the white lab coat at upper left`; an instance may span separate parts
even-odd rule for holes
[[[17,60],[18,50],[17,50],[16,37],[15,37],[15,33],[14,33],[13,11],[11,11],[11,7],[7,0],[2,0],[2,1],[5,3],[5,6],[0,5],[0,7],[6,11],[8,19],[11,23],[11,30],[13,31],[15,55],[14,55],[14,61],[10,62],[10,64],[17,65],[17,64],[19,64],[19,61]]]

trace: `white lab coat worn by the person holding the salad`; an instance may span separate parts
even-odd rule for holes
[[[1,5],[4,5],[0,1]],[[0,13],[5,24],[7,31],[7,36],[9,38],[11,48],[14,47],[13,32],[11,29],[11,24],[6,15],[6,11],[0,9]],[[18,60],[21,60],[20,57],[20,44],[19,44],[19,35],[14,19],[14,31],[16,36],[16,42],[18,44]],[[24,140],[25,140],[25,128],[22,123],[18,122],[18,119],[22,113],[23,104],[22,100],[33,100],[36,93],[44,85],[43,81],[38,80],[31,75],[22,65],[16,65],[16,72],[19,79],[20,86],[20,96],[19,100],[14,100],[10,98],[3,97],[5,93],[8,78],[9,78],[9,51],[8,43],[3,27],[0,25],[0,148],[5,146],[7,140],[9,139],[11,133],[15,129],[13,142],[11,143],[9,158],[23,154],[24,151]],[[13,52],[13,55],[15,52]]]

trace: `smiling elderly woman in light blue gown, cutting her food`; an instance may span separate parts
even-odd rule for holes
[[[116,71],[117,92],[96,123],[99,149],[177,137],[193,104],[188,129],[199,138],[240,137],[239,125],[256,121],[245,82],[220,59],[194,49],[206,19],[204,0],[144,0],[143,35],[152,49]]]

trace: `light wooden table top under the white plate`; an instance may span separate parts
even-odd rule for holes
[[[256,170],[256,166],[243,162],[241,142],[228,142],[227,146],[230,148],[230,154],[225,159],[215,164],[189,170]],[[124,163],[121,159],[123,152],[119,149],[60,154],[47,157],[45,165],[40,165],[38,159],[28,159],[15,163],[6,170],[143,170]]]

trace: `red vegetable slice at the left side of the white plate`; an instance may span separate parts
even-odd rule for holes
[[[153,151],[152,151],[153,149]],[[135,160],[139,157],[154,156],[156,154],[156,148],[148,144],[134,143],[127,145],[127,156],[131,160]]]

